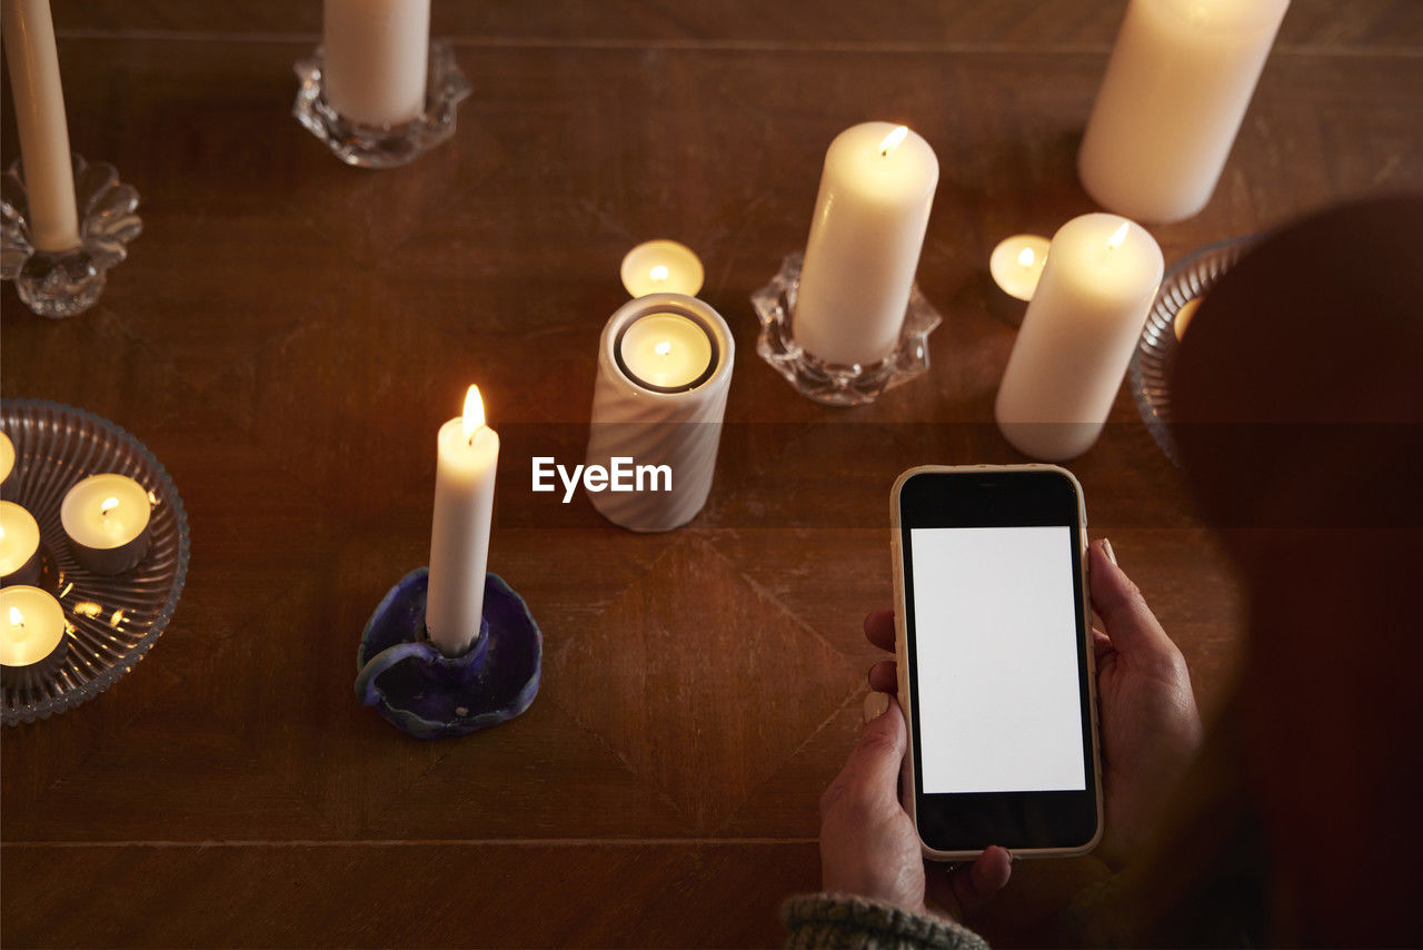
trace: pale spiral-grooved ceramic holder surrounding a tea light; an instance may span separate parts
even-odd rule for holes
[[[684,316],[713,342],[712,366],[692,389],[649,389],[632,379],[618,357],[623,330],[655,313]],[[589,491],[605,518],[629,531],[670,531],[696,517],[712,491],[734,357],[726,320],[696,298],[649,293],[612,315],[598,348],[586,463],[612,473],[615,460],[626,460],[619,464],[632,489],[615,490],[613,483],[605,491]],[[663,466],[670,473],[666,480],[659,473]]]

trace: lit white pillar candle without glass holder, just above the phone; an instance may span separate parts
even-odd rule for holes
[[[995,404],[1019,451],[1059,461],[1097,440],[1163,271],[1151,235],[1117,215],[1073,218],[1053,235]]]

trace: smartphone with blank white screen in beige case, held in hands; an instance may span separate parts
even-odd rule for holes
[[[1087,508],[1059,466],[922,466],[894,484],[904,800],[928,857],[1101,837]]]

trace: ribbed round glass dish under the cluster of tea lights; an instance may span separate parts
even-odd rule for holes
[[[47,719],[97,696],[127,674],[164,632],[188,575],[188,516],[178,489],[144,443],[94,413],[34,399],[4,400],[0,430],[14,442],[14,470],[0,494],[40,523],[40,547],[64,618],[70,657],[40,689],[4,687],[6,725]],[[60,503],[75,481],[117,471],[148,489],[154,503],[148,554],[105,577],[74,560],[60,526]]]

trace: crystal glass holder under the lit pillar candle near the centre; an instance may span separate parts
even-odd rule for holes
[[[751,306],[761,320],[756,352],[807,399],[827,406],[861,406],[879,393],[906,383],[929,369],[929,333],[943,322],[919,288],[909,291],[909,306],[899,329],[899,345],[889,356],[861,366],[825,363],[795,343],[793,315],[804,255],[787,255],[771,282],[751,295]]]

